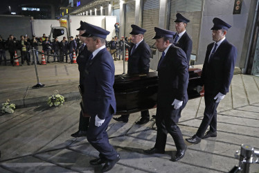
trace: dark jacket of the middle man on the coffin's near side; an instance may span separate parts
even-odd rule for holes
[[[189,73],[186,53],[172,44],[157,71],[159,75],[157,103],[159,106],[171,105],[175,98],[187,102]]]

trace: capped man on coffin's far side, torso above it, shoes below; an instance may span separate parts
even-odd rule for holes
[[[145,73],[150,70],[150,46],[144,40],[145,29],[132,25],[132,46],[130,46],[129,60],[127,61],[127,73],[130,75]],[[130,114],[114,118],[117,121],[127,122]],[[141,119],[136,122],[143,125],[150,121],[148,110],[141,111]]]

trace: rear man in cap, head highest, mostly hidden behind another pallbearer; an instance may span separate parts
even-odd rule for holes
[[[177,30],[177,34],[174,35],[174,44],[175,46],[178,46],[184,50],[186,53],[187,62],[189,64],[190,54],[193,50],[193,41],[186,33],[186,26],[190,20],[183,17],[180,13],[177,13],[176,17],[177,19],[175,20],[175,30]]]

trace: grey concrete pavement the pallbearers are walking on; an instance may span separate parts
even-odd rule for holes
[[[122,61],[115,62],[116,74],[122,73]],[[39,66],[42,89],[36,84],[33,66],[0,66],[0,101],[10,99],[19,107],[13,114],[0,116],[0,172],[100,172],[89,165],[98,152],[86,138],[71,138],[78,129],[79,94],[76,64]],[[217,138],[188,145],[179,162],[169,161],[175,155],[175,143],[168,135],[166,154],[146,155],[143,149],[154,147],[154,119],[136,125],[140,113],[132,113],[127,123],[111,120],[107,132],[110,143],[121,159],[110,172],[228,172],[238,160],[234,158],[242,143],[259,149],[259,78],[234,75],[230,92],[218,107]],[[46,98],[55,90],[65,95],[62,107],[48,107]],[[202,121],[204,98],[189,100],[182,112],[179,127],[184,138],[193,136]],[[150,115],[156,109],[150,109]],[[259,172],[259,164],[251,165]]]

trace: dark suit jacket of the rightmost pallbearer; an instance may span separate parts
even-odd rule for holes
[[[210,93],[215,96],[219,92],[223,94],[229,92],[229,85],[233,78],[235,60],[238,52],[235,46],[225,39],[208,62],[208,57],[213,45],[214,43],[211,43],[208,44],[207,47],[202,69],[202,82],[204,84],[205,93]]]

